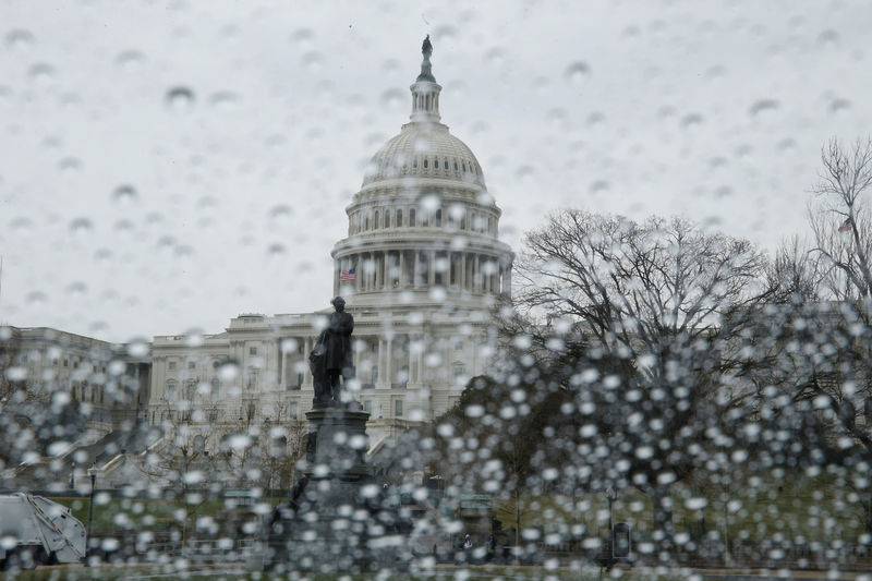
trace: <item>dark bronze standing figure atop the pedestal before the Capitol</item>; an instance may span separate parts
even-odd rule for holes
[[[315,348],[308,355],[315,388],[312,404],[315,408],[342,406],[341,385],[354,375],[351,356],[354,317],[346,313],[346,301],[341,296],[330,301],[330,304],[336,311],[330,314],[327,327],[318,335]]]

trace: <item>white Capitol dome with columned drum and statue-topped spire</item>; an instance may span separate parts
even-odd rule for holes
[[[511,292],[501,211],[472,150],[441,123],[432,52],[427,37],[410,122],[372,157],[331,252],[335,294],[354,308],[486,311]]]

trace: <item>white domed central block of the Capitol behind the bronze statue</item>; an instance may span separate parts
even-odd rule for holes
[[[334,294],[354,316],[355,379],[377,441],[449,409],[495,352],[491,310],[511,290],[512,252],[477,159],[440,122],[425,41],[412,114],[372,158],[336,243]],[[155,337],[149,422],[272,425],[312,406],[307,355],[325,310],[240,315],[196,340]]]

